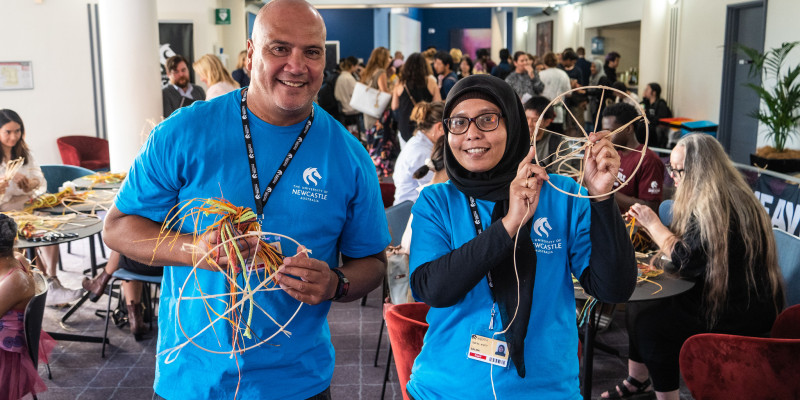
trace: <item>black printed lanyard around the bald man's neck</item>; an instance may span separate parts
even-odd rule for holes
[[[297,149],[299,149],[300,145],[303,144],[303,139],[305,139],[308,131],[311,129],[312,122],[314,122],[314,107],[311,107],[311,115],[308,116],[308,121],[306,121],[306,124],[303,126],[303,130],[300,131],[300,135],[297,136],[297,140],[294,141],[294,145],[292,145],[292,148],[289,149],[289,152],[283,159],[283,163],[281,163],[280,167],[278,167],[278,170],[275,171],[275,176],[272,177],[269,185],[267,185],[267,189],[264,190],[264,194],[261,195],[261,187],[258,185],[256,153],[255,148],[253,147],[253,139],[250,137],[250,122],[247,120],[247,88],[242,90],[242,130],[244,131],[244,143],[247,145],[247,161],[250,163],[250,179],[253,182],[253,197],[256,201],[256,214],[259,217],[263,218],[264,206],[267,204],[269,196],[272,195],[272,192],[275,190],[275,185],[277,185],[278,181],[281,180],[284,172],[286,172],[286,168],[289,167],[289,163],[291,163],[292,159],[294,159]]]

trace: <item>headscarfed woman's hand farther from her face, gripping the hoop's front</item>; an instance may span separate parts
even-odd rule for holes
[[[591,146],[584,152],[583,185],[590,196],[598,196],[611,192],[619,172],[619,153],[608,140],[608,131],[592,132],[589,135]],[[609,198],[603,196],[597,200]]]

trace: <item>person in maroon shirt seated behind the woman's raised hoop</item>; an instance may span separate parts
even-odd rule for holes
[[[636,108],[630,104],[617,103],[611,105],[603,111],[603,129],[613,132],[632,121],[637,115]],[[643,122],[636,121],[628,125],[611,138],[615,146],[627,147],[627,149],[617,147],[620,152],[618,178],[623,182],[628,180],[642,156],[641,150],[644,144],[636,140],[636,125],[640,123]],[[633,151],[634,149],[636,151]],[[614,183],[614,187],[617,185],[619,185],[619,182]],[[661,204],[662,186],[664,186],[664,164],[661,163],[661,159],[658,158],[656,153],[647,149],[642,165],[639,166],[639,170],[636,171],[633,180],[617,192],[617,204],[619,204],[619,208],[623,212],[636,203],[644,204],[653,210],[657,210],[658,205]]]

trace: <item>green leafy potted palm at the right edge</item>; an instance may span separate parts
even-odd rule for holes
[[[784,66],[788,54],[798,45],[800,41],[783,43],[763,54],[739,46],[753,61],[750,73],[761,74],[762,83],[774,82],[769,89],[746,84],[762,101],[762,106],[750,115],[767,127],[766,136],[772,141],[772,146],[758,148],[750,162],[778,172],[800,171],[800,151],[786,148],[789,139],[800,138],[800,64]]]

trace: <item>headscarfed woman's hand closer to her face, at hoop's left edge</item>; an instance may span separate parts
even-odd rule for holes
[[[536,148],[531,146],[528,155],[519,163],[517,176],[511,181],[508,192],[508,213],[503,217],[503,226],[508,235],[514,237],[521,225],[526,224],[539,205],[539,193],[544,181],[549,180],[544,168],[532,164]]]

